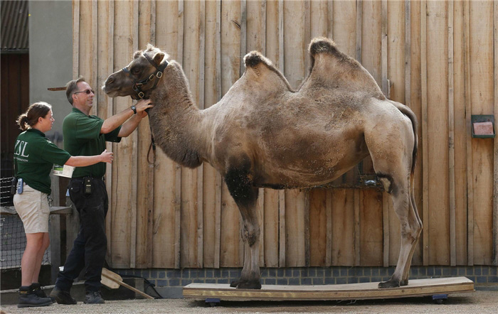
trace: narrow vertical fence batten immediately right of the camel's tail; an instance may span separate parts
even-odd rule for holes
[[[429,173],[428,173],[428,103],[427,103],[427,3],[420,1],[420,74],[422,94],[422,167],[423,167],[423,264],[429,264]]]

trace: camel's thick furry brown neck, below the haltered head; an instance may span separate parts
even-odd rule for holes
[[[200,166],[207,155],[207,130],[203,129],[203,114],[193,102],[178,63],[172,62],[166,67],[150,99],[154,108],[149,121],[159,147],[182,166]]]

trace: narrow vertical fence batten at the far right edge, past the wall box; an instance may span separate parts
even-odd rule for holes
[[[498,121],[498,4],[494,1],[494,121]],[[496,122],[495,122],[496,125]],[[496,133],[496,131],[495,131]],[[493,174],[493,265],[498,266],[498,137],[494,137]]]

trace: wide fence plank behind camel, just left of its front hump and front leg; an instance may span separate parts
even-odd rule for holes
[[[221,90],[225,94],[240,77],[240,2],[221,5]],[[240,212],[226,184],[221,190],[221,249],[220,266],[243,264],[243,246],[240,245]]]

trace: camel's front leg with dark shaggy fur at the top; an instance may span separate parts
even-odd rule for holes
[[[244,267],[238,281],[230,286],[246,289],[260,289],[259,239],[260,227],[256,213],[258,188],[252,186],[249,168],[239,166],[231,168],[225,176],[230,194],[237,203],[243,220],[242,237],[244,240]]]

